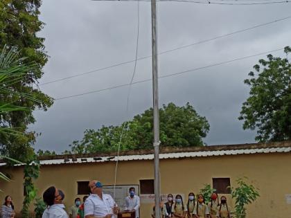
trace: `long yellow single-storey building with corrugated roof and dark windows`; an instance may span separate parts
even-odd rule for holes
[[[38,195],[51,185],[65,194],[69,210],[76,197],[88,194],[88,181],[97,179],[105,192],[112,193],[115,154],[82,154],[44,156],[36,181]],[[116,202],[123,207],[128,188],[134,186],[141,197],[140,217],[150,218],[154,205],[154,156],[152,150],[121,152],[116,175]],[[24,199],[23,166],[9,169],[0,163],[0,172],[12,181],[0,181],[0,199],[11,195],[16,212]],[[229,185],[247,176],[249,183],[259,189],[261,197],[247,208],[247,218],[291,217],[291,141],[266,144],[215,145],[206,147],[163,147],[160,152],[161,194],[199,193],[204,184],[211,184],[218,195],[227,196],[233,208]],[[33,207],[31,208],[33,210]]]

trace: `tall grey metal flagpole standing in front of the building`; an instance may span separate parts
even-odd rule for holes
[[[157,76],[157,3],[152,0],[152,96],[155,149],[155,218],[161,217],[159,189],[159,92]]]

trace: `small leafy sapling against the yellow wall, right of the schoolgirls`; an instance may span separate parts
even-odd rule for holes
[[[236,199],[236,218],[245,218],[247,212],[247,205],[256,201],[260,194],[258,189],[252,184],[248,184],[244,179],[237,179],[237,188],[231,188],[231,197]]]

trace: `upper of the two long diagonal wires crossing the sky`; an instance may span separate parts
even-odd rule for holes
[[[238,34],[238,33],[243,33],[243,32],[245,32],[247,30],[252,30],[254,28],[259,28],[261,26],[267,26],[269,24],[274,24],[276,22],[284,21],[284,20],[287,20],[287,19],[290,19],[290,18],[291,18],[291,15],[288,16],[288,17],[283,17],[281,19],[275,19],[274,21],[270,21],[270,22],[267,22],[267,23],[264,23],[264,24],[258,24],[256,26],[251,26],[249,28],[245,28],[245,29],[241,29],[241,30],[236,30],[236,31],[234,31],[232,33],[227,33],[227,34],[220,35],[220,36],[217,36],[217,37],[213,37],[213,38],[210,38],[210,39],[204,39],[202,41],[195,42],[193,44],[188,44],[188,45],[185,45],[185,46],[179,46],[177,48],[173,48],[173,49],[170,49],[170,50],[167,50],[167,51],[162,51],[161,53],[158,53],[158,55],[163,55],[163,54],[170,53],[170,52],[173,52],[173,51],[177,51],[177,50],[180,50],[180,49],[183,49],[183,48],[188,48],[188,47],[191,47],[191,46],[195,46],[197,44],[203,44],[203,43],[206,43],[206,42],[213,41],[215,39],[220,39],[220,38],[223,38],[223,37],[228,37],[230,35],[235,35],[235,34]],[[144,59],[148,59],[150,57],[152,57],[152,55],[148,55],[148,56],[144,56],[144,57],[139,57],[136,60],[144,60]],[[116,66],[122,66],[122,65],[125,65],[125,64],[130,64],[132,62],[135,62],[135,60],[130,60],[130,61],[127,61],[127,62],[121,62],[121,63],[118,63],[118,64],[112,64],[110,66],[105,66],[105,67],[100,68],[100,69],[95,69],[95,70],[92,70],[92,71],[87,71],[85,73],[78,73],[76,75],[71,75],[69,77],[60,78],[60,79],[57,79],[57,80],[51,80],[49,82],[43,82],[43,83],[41,83],[39,85],[42,86],[42,85],[45,85],[45,84],[51,84],[51,83],[54,83],[54,82],[60,82],[60,81],[63,81],[63,80],[69,80],[71,78],[77,78],[77,77],[80,77],[82,75],[87,75],[87,74],[91,74],[91,73],[96,73],[98,71],[104,71],[104,70],[107,70],[107,69],[111,69],[111,68],[114,68]]]

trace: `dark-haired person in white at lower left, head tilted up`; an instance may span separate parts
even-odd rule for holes
[[[62,204],[62,197],[57,188],[51,186],[44,191],[42,195],[47,205],[46,210],[42,214],[42,218],[69,218]]]

